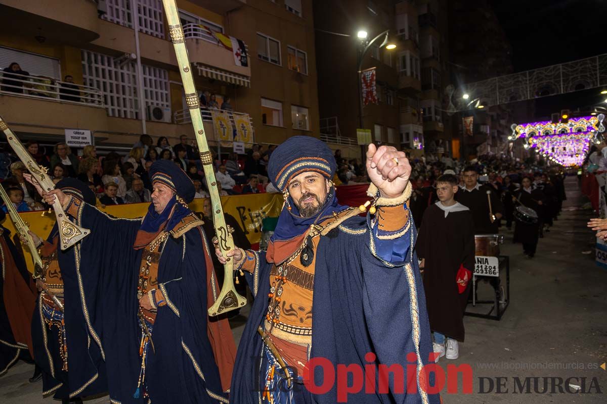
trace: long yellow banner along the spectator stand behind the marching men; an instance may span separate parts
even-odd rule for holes
[[[189,208],[202,217],[202,206],[204,199],[194,199]],[[282,208],[282,195],[274,194],[250,194],[236,196],[222,196],[223,211],[226,214],[231,214],[236,219],[246,237],[251,244],[259,243],[262,234],[262,220],[265,217],[278,217]],[[144,204],[126,204],[114,205],[106,208],[99,208],[114,217],[124,217],[133,219],[135,217],[143,217],[148,212],[148,203]],[[30,230],[38,234],[39,237],[46,240],[50,231],[55,225],[55,214],[48,211],[35,211],[19,213],[25,222],[30,224]],[[13,221],[7,215],[2,226],[10,230],[11,238],[17,246],[17,250],[21,247],[19,237],[16,236],[15,226]],[[90,229],[93,233],[95,229]],[[33,273],[32,256],[27,248],[22,248],[25,256],[27,268]]]

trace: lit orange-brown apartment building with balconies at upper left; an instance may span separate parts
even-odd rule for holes
[[[177,5],[201,98],[229,98],[232,117],[250,117],[256,143],[317,136],[312,0]],[[0,113],[24,139],[83,129],[103,150],[128,148],[142,133],[194,138],[161,0],[2,0],[0,13],[0,67],[17,62],[29,73],[9,72]],[[211,110],[202,113],[216,145]]]

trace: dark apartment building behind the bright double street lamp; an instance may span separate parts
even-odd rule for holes
[[[366,105],[362,117],[373,141],[422,154],[428,141],[435,145],[435,139],[450,136],[443,125],[443,83],[448,77],[443,77],[446,68],[441,62],[441,52],[448,55],[447,26],[446,20],[436,21],[439,11],[438,1],[429,0],[314,4],[321,133],[356,137],[360,47],[356,33],[364,29],[368,38],[388,30],[389,42],[396,45],[393,50],[381,48],[379,39],[362,61],[362,70],[376,68],[378,104]],[[333,125],[324,125],[327,122]]]

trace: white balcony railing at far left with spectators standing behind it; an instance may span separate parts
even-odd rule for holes
[[[0,93],[89,107],[104,107],[103,92],[97,88],[44,76],[25,76],[0,71]]]

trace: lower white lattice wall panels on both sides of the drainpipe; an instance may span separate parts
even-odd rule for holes
[[[171,108],[168,71],[148,65],[142,67],[145,105]],[[140,119],[134,63],[83,50],[82,71],[84,85],[103,91],[109,116]]]

